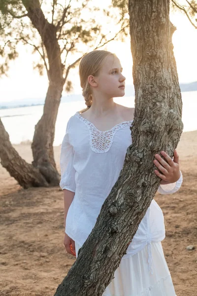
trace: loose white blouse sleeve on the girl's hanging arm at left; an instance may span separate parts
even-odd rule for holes
[[[75,169],[73,167],[73,147],[69,143],[68,136],[69,120],[66,126],[66,134],[64,136],[60,154],[60,168],[61,168],[61,181],[60,187],[75,192]]]

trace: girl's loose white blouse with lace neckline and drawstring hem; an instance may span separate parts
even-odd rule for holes
[[[75,192],[65,232],[80,246],[94,228],[101,206],[123,168],[127,148],[132,144],[131,124],[132,120],[124,121],[103,132],[79,112],[67,122],[60,156],[60,186]],[[181,183],[182,174],[176,183],[160,185],[158,191],[174,193]],[[150,248],[151,241],[162,241],[164,237],[163,212],[153,199],[123,258],[134,255],[146,244]],[[149,257],[150,263],[151,250]]]

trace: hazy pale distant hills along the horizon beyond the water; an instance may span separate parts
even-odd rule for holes
[[[185,91],[197,91],[197,81],[190,83],[180,83],[181,92]],[[126,84],[125,88],[125,96],[132,97],[135,95],[134,85]],[[44,98],[28,98],[18,101],[10,101],[10,102],[0,102],[0,109],[9,109],[9,108],[19,108],[19,107],[30,107],[30,106],[38,106],[44,105]],[[70,102],[70,101],[82,101],[83,96],[80,94],[72,94],[63,96],[61,99],[61,103]]]

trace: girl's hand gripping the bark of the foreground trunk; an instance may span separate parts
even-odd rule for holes
[[[153,161],[156,167],[161,171],[160,173],[158,170],[155,170],[155,174],[162,179],[160,184],[166,185],[178,181],[181,172],[179,169],[179,156],[176,149],[174,150],[173,160],[164,151],[161,151],[161,154],[164,156],[165,160],[159,154],[155,154],[156,159]]]

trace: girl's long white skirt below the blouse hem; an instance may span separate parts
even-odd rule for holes
[[[79,246],[75,242],[76,257]],[[133,256],[122,258],[114,278],[102,296],[176,296],[161,242],[151,242],[152,272],[148,245]]]

